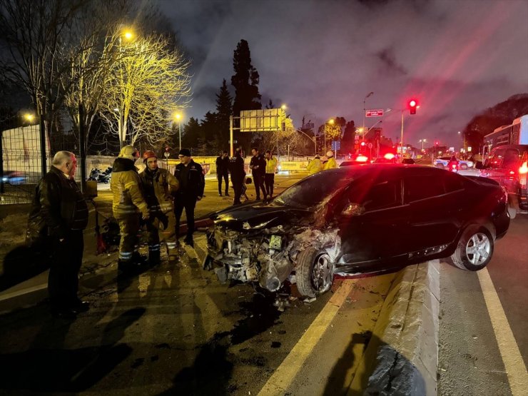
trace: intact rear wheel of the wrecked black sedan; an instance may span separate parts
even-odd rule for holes
[[[470,225],[462,233],[451,260],[462,270],[482,270],[492,259],[493,249],[491,233],[484,227]]]

